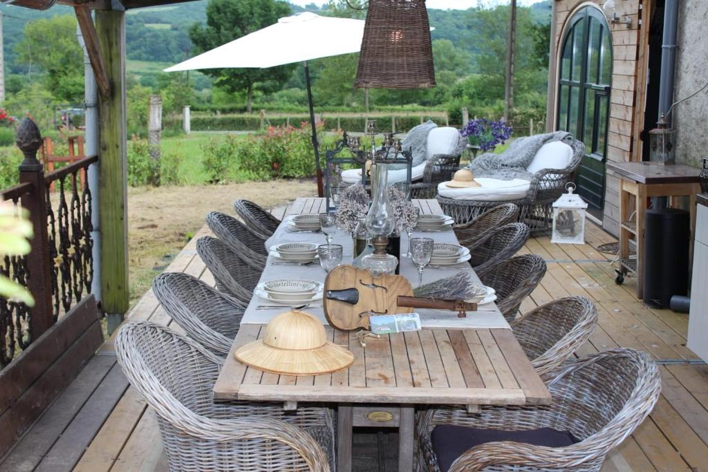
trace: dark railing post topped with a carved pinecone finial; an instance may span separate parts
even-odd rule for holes
[[[30,316],[30,333],[36,340],[54,323],[52,309],[52,272],[47,236],[47,201],[42,163],[37,151],[42,146],[42,134],[31,118],[22,120],[17,128],[16,142],[25,159],[20,164],[20,183],[31,183],[32,191],[23,195],[22,206],[30,212],[34,236],[27,255],[29,272],[27,288],[35,299]]]

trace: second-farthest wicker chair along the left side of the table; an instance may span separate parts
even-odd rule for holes
[[[207,225],[244,262],[254,269],[263,270],[268,259],[265,239],[251,233],[241,221],[222,212],[207,214]]]

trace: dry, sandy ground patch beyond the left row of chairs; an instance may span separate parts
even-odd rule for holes
[[[213,211],[235,214],[232,203],[245,198],[265,208],[312,197],[314,180],[272,180],[229,185],[128,189],[130,304],[147,292],[152,279],[204,224]]]

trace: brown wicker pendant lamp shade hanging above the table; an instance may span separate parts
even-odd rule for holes
[[[354,86],[435,86],[425,0],[369,1]]]

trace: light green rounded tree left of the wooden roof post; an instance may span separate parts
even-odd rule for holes
[[[30,21],[15,48],[20,62],[44,71],[45,87],[55,98],[69,103],[84,99],[84,52],[76,40],[74,16]]]

